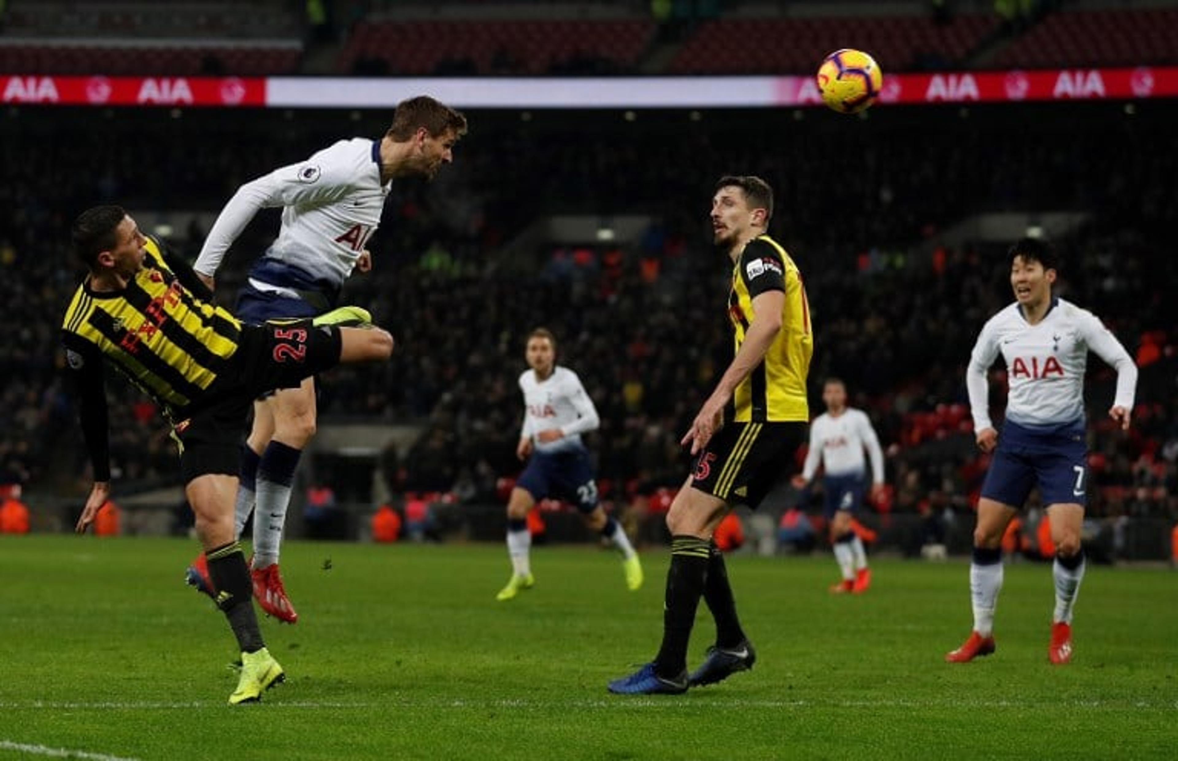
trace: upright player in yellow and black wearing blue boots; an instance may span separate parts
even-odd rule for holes
[[[756,508],[806,441],[809,305],[798,266],[766,232],[772,216],[773,190],[765,180],[724,177],[716,184],[712,229],[733,264],[728,317],[735,357],[682,441],[695,464],[667,514],[671,551],[662,646],[651,662],[610,682],[613,693],[682,693],[756,661],[713,535],[733,504]],[[687,646],[701,596],[716,640],[689,676]]]

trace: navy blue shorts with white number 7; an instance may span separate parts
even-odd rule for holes
[[[1044,505],[1087,504],[1088,451],[1084,422],[1034,429],[1007,421],[981,496],[1021,508],[1039,487]]]

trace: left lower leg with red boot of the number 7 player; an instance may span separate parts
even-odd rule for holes
[[[1014,517],[1014,508],[982,497],[978,501],[978,524],[973,532],[973,562],[969,564],[969,600],[973,631],[955,650],[945,655],[949,663],[966,663],[990,655],[994,644],[994,609],[1002,589],[1002,534]]]

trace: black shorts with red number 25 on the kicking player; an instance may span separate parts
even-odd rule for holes
[[[243,325],[231,366],[184,412],[176,425],[184,483],[197,476],[240,470],[240,443],[253,401],[274,389],[294,389],[339,363],[342,339],[335,325],[310,319]]]

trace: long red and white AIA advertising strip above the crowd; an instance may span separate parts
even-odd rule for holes
[[[780,108],[819,106],[813,77],[349,78],[0,75],[11,105],[388,108],[431,94],[459,108]],[[1178,97],[1178,66],[884,75],[892,104]]]

